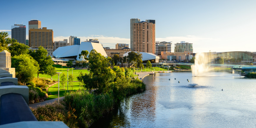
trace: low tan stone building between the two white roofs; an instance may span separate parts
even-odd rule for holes
[[[104,50],[107,53],[108,57],[113,57],[115,54],[119,55],[119,57],[124,57],[123,54],[132,51],[130,48],[124,47],[122,49],[106,49],[104,48]]]

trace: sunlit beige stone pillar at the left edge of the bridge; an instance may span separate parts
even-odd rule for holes
[[[0,52],[0,69],[5,69],[15,78],[15,68],[11,68],[11,53],[7,50]]]

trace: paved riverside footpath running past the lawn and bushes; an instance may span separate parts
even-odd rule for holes
[[[145,76],[149,75],[147,72],[136,72],[136,75],[138,79],[143,79]],[[59,100],[63,100],[64,97],[59,97]],[[35,103],[35,104],[29,104],[29,107],[32,107],[32,108],[37,108],[39,106],[44,106],[46,104],[49,104],[49,103],[53,103],[54,101],[57,101],[58,98],[55,98],[55,99],[50,99],[50,100],[46,100],[46,101],[43,101],[43,102],[39,102],[39,103]]]

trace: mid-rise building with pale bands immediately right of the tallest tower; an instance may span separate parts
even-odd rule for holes
[[[172,43],[156,41],[156,55],[161,55],[161,51],[172,52]]]

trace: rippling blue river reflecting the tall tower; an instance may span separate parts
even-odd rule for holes
[[[189,72],[156,73],[143,81],[145,92],[125,98],[91,127],[256,127],[256,79]]]

